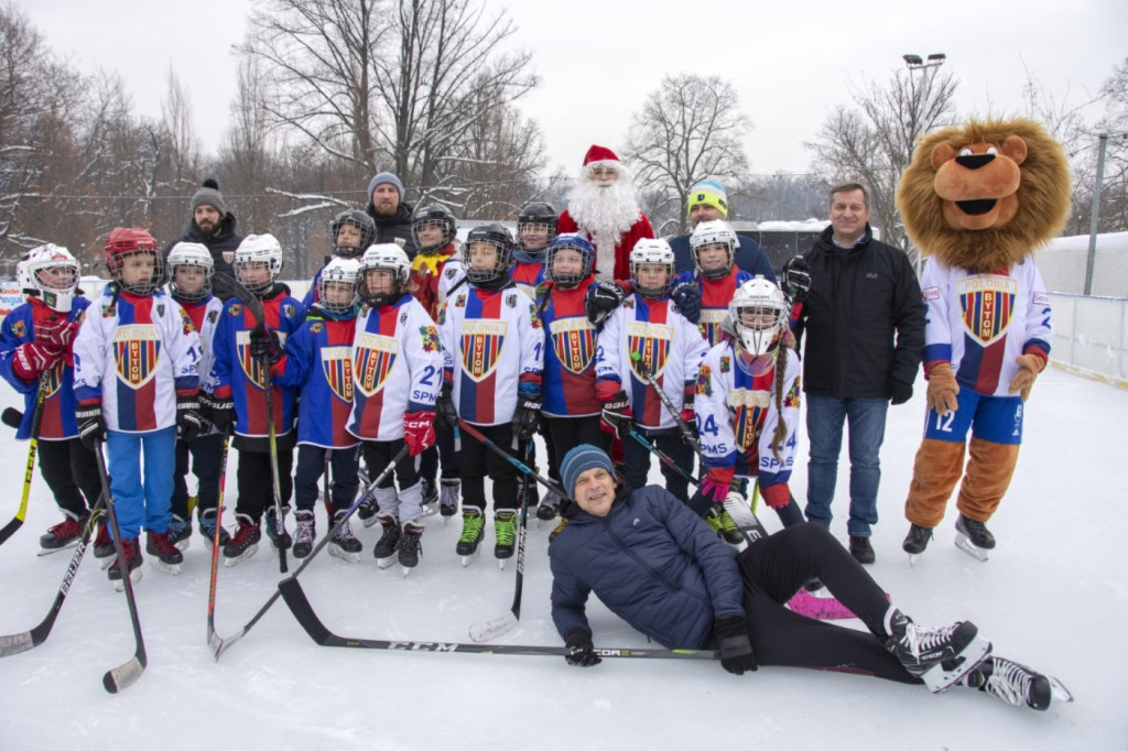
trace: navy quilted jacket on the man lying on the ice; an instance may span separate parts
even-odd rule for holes
[[[562,637],[574,628],[591,633],[584,615],[591,592],[670,650],[699,648],[714,618],[744,615],[732,549],[656,485],[619,498],[602,519],[580,511],[548,546],[548,558]]]

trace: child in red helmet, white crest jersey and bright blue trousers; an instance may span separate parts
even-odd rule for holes
[[[124,556],[108,575],[112,581],[141,577],[142,524],[149,562],[175,574],[184,557],[168,531],[169,470],[177,430],[186,441],[200,433],[200,336],[159,288],[160,249],[149,232],[118,227],[106,238],[104,253],[114,281],[83,312],[73,355],[79,436],[92,451],[105,443],[109,454],[107,489]],[[129,574],[121,571],[121,557]]]

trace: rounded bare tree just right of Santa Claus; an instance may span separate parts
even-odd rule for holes
[[[710,175],[735,183],[748,171],[743,138],[751,124],[732,83],[717,76],[667,76],[633,121],[624,156],[647,186],[655,227],[677,219],[684,232],[694,183]]]

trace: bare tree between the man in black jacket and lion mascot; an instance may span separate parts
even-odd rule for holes
[[[906,253],[909,241],[895,205],[897,182],[917,139],[952,121],[958,86],[951,71],[937,68],[899,70],[884,86],[866,81],[852,91],[853,105],[835,107],[818,140],[804,143],[827,182],[866,185],[882,239]]]

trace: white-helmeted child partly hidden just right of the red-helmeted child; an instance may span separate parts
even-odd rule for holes
[[[166,259],[168,264],[168,293],[184,312],[192,319],[200,334],[200,386],[206,390],[205,382],[211,373],[214,354],[212,344],[215,327],[223,312],[223,301],[212,294],[211,281],[215,262],[206,246],[199,242],[177,242],[171,247]],[[188,548],[192,537],[192,509],[188,494],[188,460],[191,458],[192,474],[196,477],[196,515],[200,521],[200,533],[204,544],[211,547],[215,539],[215,516],[219,506],[219,478],[223,474],[221,466],[223,457],[223,436],[214,427],[195,436],[191,441],[183,438],[176,441],[176,472],[173,476],[173,522],[169,524],[169,536],[180,550]],[[220,545],[227,545],[231,539],[228,531],[220,530]]]

